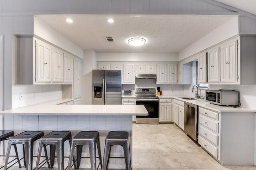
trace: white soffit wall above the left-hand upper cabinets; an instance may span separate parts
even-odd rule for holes
[[[83,58],[82,48],[70,41],[68,38],[64,37],[57,30],[47,25],[36,16],[34,16],[34,34],[80,58]]]

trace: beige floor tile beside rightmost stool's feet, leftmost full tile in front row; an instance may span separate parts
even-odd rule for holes
[[[134,152],[132,162],[133,168],[159,168],[154,153]]]

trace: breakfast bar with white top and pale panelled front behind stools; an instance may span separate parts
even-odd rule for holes
[[[103,156],[105,138],[109,131],[128,131],[130,150],[132,150],[132,116],[148,115],[142,105],[60,105],[62,100],[2,111],[0,112],[3,118],[1,119],[1,130],[14,130],[14,134],[26,130],[42,130],[44,134],[53,130],[68,130],[72,132],[72,137],[80,131],[98,131]],[[37,156],[38,153],[38,142],[34,143],[34,156]],[[6,154],[7,144],[8,142],[5,142],[4,149],[1,150],[3,155]],[[18,154],[22,158],[22,147],[17,145],[17,148]],[[65,142],[64,148],[64,166],[67,166],[70,152],[68,142]],[[130,153],[132,158],[132,152]],[[14,151],[11,152],[11,155],[14,155]],[[83,148],[82,156],[89,157],[88,147]],[[110,156],[124,157],[123,148],[113,146]],[[2,164],[4,159],[3,157],[1,159]],[[33,166],[35,166],[35,162],[36,157],[34,157]],[[47,165],[45,164],[45,166]],[[54,167],[57,167],[57,163],[54,164]],[[90,167],[90,158],[82,158],[80,168]],[[110,158],[108,167],[125,168],[126,165],[123,158]]]

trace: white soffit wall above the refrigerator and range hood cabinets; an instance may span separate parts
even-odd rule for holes
[[[97,61],[178,61],[178,53],[96,53]]]

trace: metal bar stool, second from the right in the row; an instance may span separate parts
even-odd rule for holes
[[[83,145],[89,146],[91,168],[92,168],[92,170],[96,170],[97,169],[97,167],[96,167],[96,144],[97,144],[97,149],[98,149],[98,154],[99,154],[99,159],[100,159],[100,166],[102,168],[99,132],[82,131],[82,132],[79,132],[74,138],[72,138],[70,156],[69,156],[69,161],[68,161],[68,170],[71,169],[72,159],[74,157],[74,152],[75,152],[76,146],[77,146],[76,167],[79,168]]]

